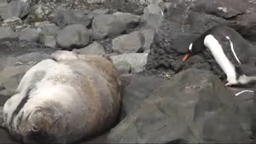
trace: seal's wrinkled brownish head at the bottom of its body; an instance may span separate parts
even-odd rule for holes
[[[38,107],[21,117],[19,127],[24,143],[56,142],[55,133],[60,130],[61,116],[55,110]]]

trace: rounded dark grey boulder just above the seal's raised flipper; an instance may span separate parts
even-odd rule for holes
[[[90,32],[84,25],[67,26],[57,33],[56,43],[62,49],[80,49],[90,43]]]

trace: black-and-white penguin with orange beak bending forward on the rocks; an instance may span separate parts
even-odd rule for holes
[[[189,56],[210,49],[214,59],[227,76],[226,86],[249,84],[256,81],[256,48],[229,26],[213,26],[189,44],[183,61]],[[254,76],[255,77],[254,77]]]

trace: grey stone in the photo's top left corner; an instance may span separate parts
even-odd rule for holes
[[[29,3],[22,1],[13,1],[8,3],[7,7],[3,9],[1,17],[3,20],[9,19],[11,17],[19,17],[20,19],[24,18],[30,12]]]

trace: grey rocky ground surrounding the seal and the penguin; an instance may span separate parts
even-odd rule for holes
[[[110,55],[125,82],[120,119],[81,143],[255,141],[254,93],[225,88],[208,52],[182,62],[189,43],[218,24],[255,44],[255,0],[0,0],[0,12],[0,106],[56,49]]]

